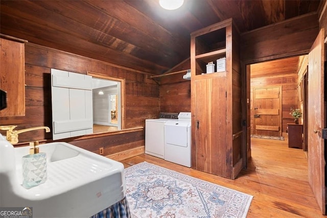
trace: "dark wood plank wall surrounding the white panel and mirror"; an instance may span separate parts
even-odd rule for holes
[[[51,111],[51,68],[68,70],[80,74],[87,71],[100,75],[124,78],[125,87],[125,128],[144,127],[146,118],[159,114],[159,86],[148,75],[114,67],[109,63],[27,43],[26,56],[26,116],[0,117],[0,125],[17,125],[17,130],[30,127],[52,128]],[[4,134],[5,132],[2,132]],[[44,130],[21,133],[19,142],[51,141],[52,132]],[[74,141],[73,141],[74,140]],[[104,147],[104,155],[144,146],[144,130],[126,134],[99,136],[78,140],[66,139],[86,150],[98,152]]]

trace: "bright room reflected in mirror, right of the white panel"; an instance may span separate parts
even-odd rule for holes
[[[93,133],[121,130],[121,83],[92,78]]]

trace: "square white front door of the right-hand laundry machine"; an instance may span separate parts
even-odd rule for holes
[[[174,146],[188,147],[188,127],[190,123],[168,121],[165,124],[165,140],[167,144]]]

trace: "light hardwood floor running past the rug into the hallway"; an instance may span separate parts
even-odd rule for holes
[[[126,167],[146,161],[253,196],[247,217],[323,216],[308,183],[308,164],[300,149],[287,140],[251,139],[252,158],[235,180],[196,171],[142,154],[122,162]]]

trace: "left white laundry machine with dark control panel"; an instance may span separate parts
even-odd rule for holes
[[[145,153],[165,158],[165,123],[177,120],[178,113],[160,113],[159,119],[145,120]]]

